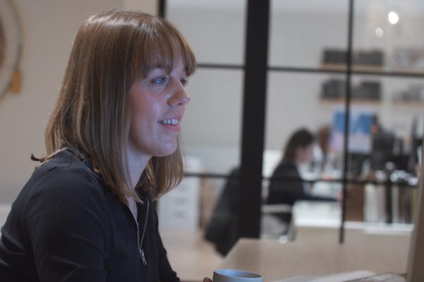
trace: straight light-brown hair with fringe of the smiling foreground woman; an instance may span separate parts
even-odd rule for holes
[[[112,10],[91,16],[78,33],[57,104],[45,132],[48,161],[73,148],[88,158],[102,181],[122,202],[132,196],[126,145],[131,112],[129,89],[139,78],[160,67],[172,71],[179,56],[190,76],[196,69],[192,49],[181,33],[163,18]],[[179,137],[178,137],[179,139]],[[184,177],[179,147],[167,157],[152,157],[137,188],[158,198]]]

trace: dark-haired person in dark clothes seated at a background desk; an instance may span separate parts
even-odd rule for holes
[[[269,183],[269,195],[266,204],[290,204],[297,200],[334,201],[329,197],[314,197],[307,194],[305,183],[300,177],[298,168],[312,161],[314,135],[306,129],[296,131],[288,141],[283,159],[273,172]],[[273,179],[276,178],[276,179]],[[287,178],[287,179],[278,179]],[[291,214],[274,214],[281,221],[289,223]]]

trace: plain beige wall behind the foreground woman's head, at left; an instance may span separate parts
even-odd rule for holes
[[[155,11],[156,1],[13,0],[23,30],[22,91],[0,98],[0,202],[12,202],[45,155],[45,122],[60,86],[73,37],[92,13],[112,8]]]

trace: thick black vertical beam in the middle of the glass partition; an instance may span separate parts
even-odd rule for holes
[[[238,233],[259,238],[264,152],[269,0],[247,1]]]

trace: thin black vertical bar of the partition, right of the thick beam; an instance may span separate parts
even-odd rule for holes
[[[353,0],[349,0],[348,18],[348,55],[346,58],[346,115],[344,130],[344,155],[343,155],[343,201],[341,212],[341,226],[339,243],[344,242],[344,223],[346,219],[346,185],[348,185],[348,145],[349,145],[349,120],[351,116],[351,76],[352,76],[352,43],[353,43]]]

